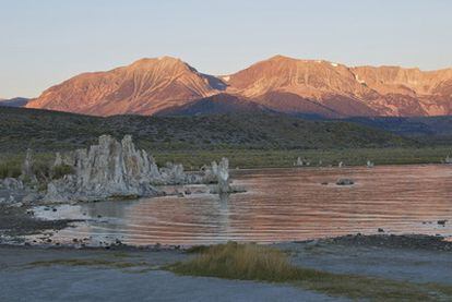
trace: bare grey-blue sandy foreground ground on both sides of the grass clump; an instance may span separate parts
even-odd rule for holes
[[[274,245],[300,267],[452,287],[451,243],[429,237],[345,237]],[[0,247],[0,301],[330,301],[296,285],[178,276],[183,251]],[[420,287],[420,286],[419,286]],[[452,294],[452,292],[451,292]],[[435,300],[448,301],[449,294]],[[374,297],[379,300],[379,297]]]

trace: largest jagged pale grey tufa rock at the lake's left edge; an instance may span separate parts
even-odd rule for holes
[[[162,176],[145,150],[136,150],[130,135],[119,143],[102,135],[98,145],[74,153],[74,174],[53,180],[45,198],[50,202],[96,201],[121,195],[153,196],[151,183]]]

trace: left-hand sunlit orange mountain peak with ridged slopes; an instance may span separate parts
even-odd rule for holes
[[[74,76],[27,107],[95,116],[152,114],[216,94],[221,81],[211,77],[177,58],[143,58],[111,71]]]

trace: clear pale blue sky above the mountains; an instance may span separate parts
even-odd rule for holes
[[[452,67],[449,0],[0,0],[0,98],[173,56],[237,72],[274,55]]]

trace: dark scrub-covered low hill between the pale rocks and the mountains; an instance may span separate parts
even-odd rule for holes
[[[148,149],[331,149],[407,146],[399,135],[346,121],[310,121],[269,113],[194,117],[90,117],[57,111],[1,108],[0,152],[84,147],[100,134],[132,134]]]

